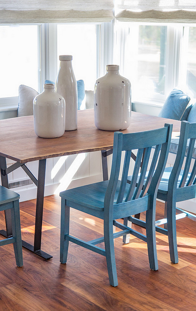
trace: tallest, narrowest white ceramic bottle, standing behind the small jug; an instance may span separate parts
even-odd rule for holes
[[[60,55],[60,68],[55,81],[55,91],[65,98],[65,131],[77,129],[77,82],[72,68],[72,56]]]

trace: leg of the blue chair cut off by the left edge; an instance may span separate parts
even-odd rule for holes
[[[23,259],[22,259],[22,238],[21,238],[19,200],[13,201],[13,208],[11,209],[11,215],[12,215],[12,234],[13,237],[15,237],[15,242],[13,243],[13,246],[16,264],[18,267],[22,267]]]

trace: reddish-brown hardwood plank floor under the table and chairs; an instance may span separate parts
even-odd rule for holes
[[[20,203],[22,238],[33,242],[36,200]],[[163,214],[163,203],[157,202]],[[42,250],[49,261],[23,248],[16,267],[12,244],[0,248],[0,311],[194,311],[196,310],[196,222],[177,221],[179,263],[172,264],[167,236],[157,233],[159,270],[149,268],[146,243],[115,239],[117,287],[109,285],[105,257],[70,243],[59,262],[60,197],[44,200]],[[5,228],[0,214],[1,229]],[[134,227],[134,226],[133,226]],[[102,220],[71,211],[70,234],[90,240],[103,233]]]

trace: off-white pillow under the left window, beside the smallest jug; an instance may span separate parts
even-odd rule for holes
[[[33,100],[39,93],[26,85],[18,88],[18,117],[33,115]]]

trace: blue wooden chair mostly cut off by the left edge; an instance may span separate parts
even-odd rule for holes
[[[0,211],[10,209],[12,216],[12,237],[0,241],[0,246],[13,243],[16,264],[23,266],[22,260],[22,239],[19,210],[19,194],[0,186]]]

